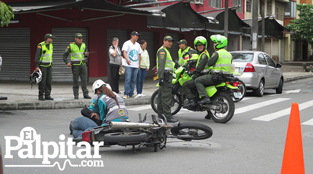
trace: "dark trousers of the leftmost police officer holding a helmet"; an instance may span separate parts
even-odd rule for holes
[[[39,67],[42,73],[41,81],[38,84],[38,96],[50,96],[52,83],[52,67]]]

